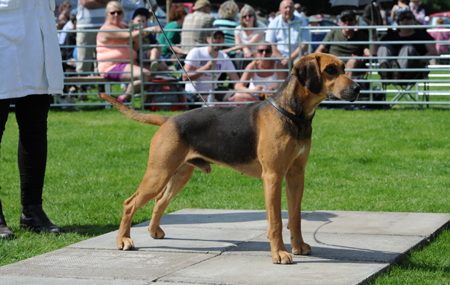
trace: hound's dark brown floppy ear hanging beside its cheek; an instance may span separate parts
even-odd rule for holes
[[[300,84],[314,94],[322,90],[320,56],[305,56],[294,66],[292,74],[299,78]]]

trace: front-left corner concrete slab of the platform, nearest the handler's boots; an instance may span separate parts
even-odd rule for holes
[[[154,281],[215,254],[59,249],[0,267],[0,276]],[[39,283],[36,283],[39,284]]]

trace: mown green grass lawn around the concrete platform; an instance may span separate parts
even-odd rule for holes
[[[448,105],[317,110],[302,209],[449,213],[449,118]],[[0,185],[17,239],[0,241],[0,266],[118,229],[122,203],[141,182],[156,130],[115,109],[51,110],[44,210],[67,231],[54,237],[19,229],[18,130],[10,113]],[[153,205],[140,209],[134,224],[151,219]],[[211,175],[196,170],[166,213],[184,208],[265,209],[262,182],[223,167],[213,166]],[[374,284],[450,284],[449,229]]]

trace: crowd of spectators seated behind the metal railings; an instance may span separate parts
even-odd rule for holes
[[[60,44],[76,41],[76,46],[96,45],[96,48],[79,47],[74,51],[78,60],[74,70],[79,76],[86,76],[86,73],[89,72],[98,72],[111,81],[132,81],[134,92],[138,93],[141,88],[141,72],[144,73],[144,81],[149,82],[157,71],[168,71],[169,65],[176,63],[176,61],[168,61],[175,57],[169,48],[169,41],[176,56],[184,58],[184,68],[191,75],[191,80],[211,81],[214,78],[214,81],[224,81],[228,77],[231,81],[243,81],[234,84],[233,90],[238,93],[225,96],[217,94],[216,100],[258,99],[258,96],[255,95],[257,93],[251,93],[251,90],[259,91],[261,84],[250,82],[252,79],[264,81],[271,80],[273,76],[285,77],[278,71],[269,74],[253,70],[261,68],[286,70],[292,66],[308,52],[309,46],[306,42],[311,41],[310,33],[305,32],[308,30],[302,30],[302,27],[321,26],[321,22],[325,19],[323,10],[308,16],[309,11],[306,7],[299,3],[294,4],[293,0],[282,0],[279,4],[279,11],[269,14],[269,17],[266,18],[267,29],[263,29],[257,21],[261,20],[261,14],[247,4],[239,9],[234,0],[225,1],[219,7],[218,19],[216,19],[211,15],[212,6],[209,0],[197,0],[192,7],[193,13],[188,13],[181,4],[171,7],[169,24],[164,27],[164,31],[169,31],[164,37],[159,26],[147,26],[151,9],[144,8],[142,0],[122,0],[120,2],[79,0],[78,2],[78,11],[75,17],[71,14],[70,2],[64,1],[59,8],[60,14],[57,21],[58,27],[61,26],[63,30],[76,29],[78,31],[76,34],[67,33],[67,35],[73,36],[65,36],[64,33],[60,33]],[[156,9],[156,6],[156,0],[152,0],[152,7]],[[369,26],[388,25],[389,19],[393,19],[394,25],[417,25],[424,24],[425,10],[419,0],[399,0],[389,14],[382,9],[379,1],[372,1],[365,6],[364,14],[361,17]],[[347,76],[358,76],[359,73],[353,72],[352,69],[364,68],[366,61],[361,57],[371,56],[369,43],[353,42],[380,41],[379,45],[374,45],[373,56],[436,56],[449,51],[448,45],[440,45],[436,48],[436,45],[430,43],[382,44],[383,41],[432,41],[433,38],[439,38],[442,41],[449,38],[449,33],[445,31],[430,34],[422,29],[400,28],[397,31],[389,32],[382,38],[378,38],[377,33],[374,32],[373,37],[369,39],[368,30],[347,28],[347,26],[358,25],[358,17],[354,11],[343,11],[336,18],[337,24],[342,28],[332,29],[324,38],[324,43],[319,44],[318,47],[314,46],[312,51],[343,57]],[[290,21],[294,21],[294,24],[289,23]],[[139,31],[132,32],[133,64],[130,63],[129,48],[125,47],[129,45],[129,31],[105,31],[128,28],[127,23],[129,22],[142,24],[141,36],[144,38],[144,41],[140,43],[137,41]],[[87,28],[96,28],[100,31],[99,33],[84,32],[84,29]],[[179,31],[171,31],[174,29]],[[156,38],[156,33],[159,33],[159,38]],[[76,40],[74,39],[75,35]],[[209,43],[221,46],[207,47],[206,45]],[[257,45],[259,43],[263,46],[270,46],[270,48],[260,48],[261,46]],[[124,47],[116,47],[119,45]],[[161,47],[161,45],[164,46]],[[140,58],[137,54],[139,46],[142,48],[142,57],[146,63],[144,68],[141,68],[137,61]],[[261,53],[262,50],[266,50],[266,52]],[[214,58],[211,58],[211,54]],[[70,57],[67,52],[63,55],[64,59]],[[268,57],[277,58],[277,60],[266,59]],[[95,58],[97,62],[90,61]],[[264,59],[254,61],[254,58]],[[394,71],[398,68],[423,67],[425,64],[425,61],[418,60],[386,61],[381,59],[379,61],[381,68],[393,68]],[[131,69],[133,78],[129,73]],[[214,69],[211,73],[204,72],[211,69]],[[397,71],[380,73],[382,78],[407,78],[410,74]],[[188,78],[183,75],[180,76],[180,80],[187,81]],[[131,99],[131,84],[124,86],[125,94],[120,95],[119,100],[127,102]],[[220,88],[220,86],[213,86],[210,83],[196,83],[196,88],[191,86],[191,83],[186,83],[185,86],[186,93],[191,94],[189,98],[196,97],[195,89],[206,92]],[[147,88],[147,86],[144,87]],[[270,88],[276,90],[274,86]],[[99,89],[102,91],[101,86]],[[81,93],[83,92],[86,91],[81,89]],[[269,94],[273,94],[273,92]],[[81,95],[79,98],[83,99],[84,96]],[[200,98],[197,96],[196,99]]]

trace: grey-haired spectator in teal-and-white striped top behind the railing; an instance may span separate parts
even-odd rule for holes
[[[234,0],[225,1],[219,8],[219,19],[214,21],[213,28],[220,28],[225,34],[224,53],[230,58],[236,55],[236,47],[234,46],[234,29],[239,26],[236,22],[236,16],[239,13],[239,7]]]

